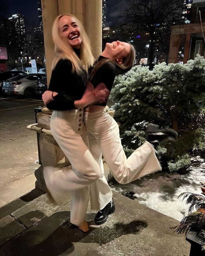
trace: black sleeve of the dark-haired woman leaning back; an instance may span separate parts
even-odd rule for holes
[[[111,91],[116,75],[116,68],[111,63],[105,63],[94,74],[91,83],[96,87],[99,83],[105,84],[107,89]]]

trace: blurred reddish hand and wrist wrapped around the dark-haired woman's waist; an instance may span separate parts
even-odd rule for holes
[[[110,91],[107,87],[100,83],[95,88],[93,85],[88,82],[86,86],[86,90],[80,100],[75,101],[75,107],[87,107],[94,105],[96,103],[104,103],[110,95]]]

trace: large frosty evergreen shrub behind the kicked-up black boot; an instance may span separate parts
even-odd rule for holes
[[[191,156],[205,149],[205,59],[197,56],[187,64],[135,66],[117,76],[111,99],[127,156],[144,141],[148,122],[177,130],[177,142],[158,148],[170,171],[186,168]]]

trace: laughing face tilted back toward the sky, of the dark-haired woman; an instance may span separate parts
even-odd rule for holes
[[[105,51],[115,60],[122,60],[131,50],[130,44],[120,41],[106,43]]]

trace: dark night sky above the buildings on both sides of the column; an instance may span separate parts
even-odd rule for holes
[[[115,25],[120,19],[120,14],[123,12],[130,0],[107,0],[107,26]],[[36,0],[1,0],[1,4],[6,6],[6,16],[20,13],[25,16],[25,25],[30,25],[33,22],[35,25],[38,22],[37,3]]]

